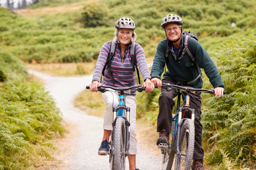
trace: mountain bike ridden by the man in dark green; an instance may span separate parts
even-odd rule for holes
[[[190,108],[190,92],[206,92],[214,94],[214,90],[195,89],[163,83],[161,88],[166,90],[176,89],[178,92],[176,114],[172,114],[172,137],[168,144],[160,143],[158,147],[162,153],[162,169],[172,170],[175,157],[175,170],[190,170],[194,154],[195,144],[195,110]],[[225,92],[224,92],[225,93]],[[184,94],[182,104],[181,96]],[[191,118],[184,118],[187,112],[191,112]]]

